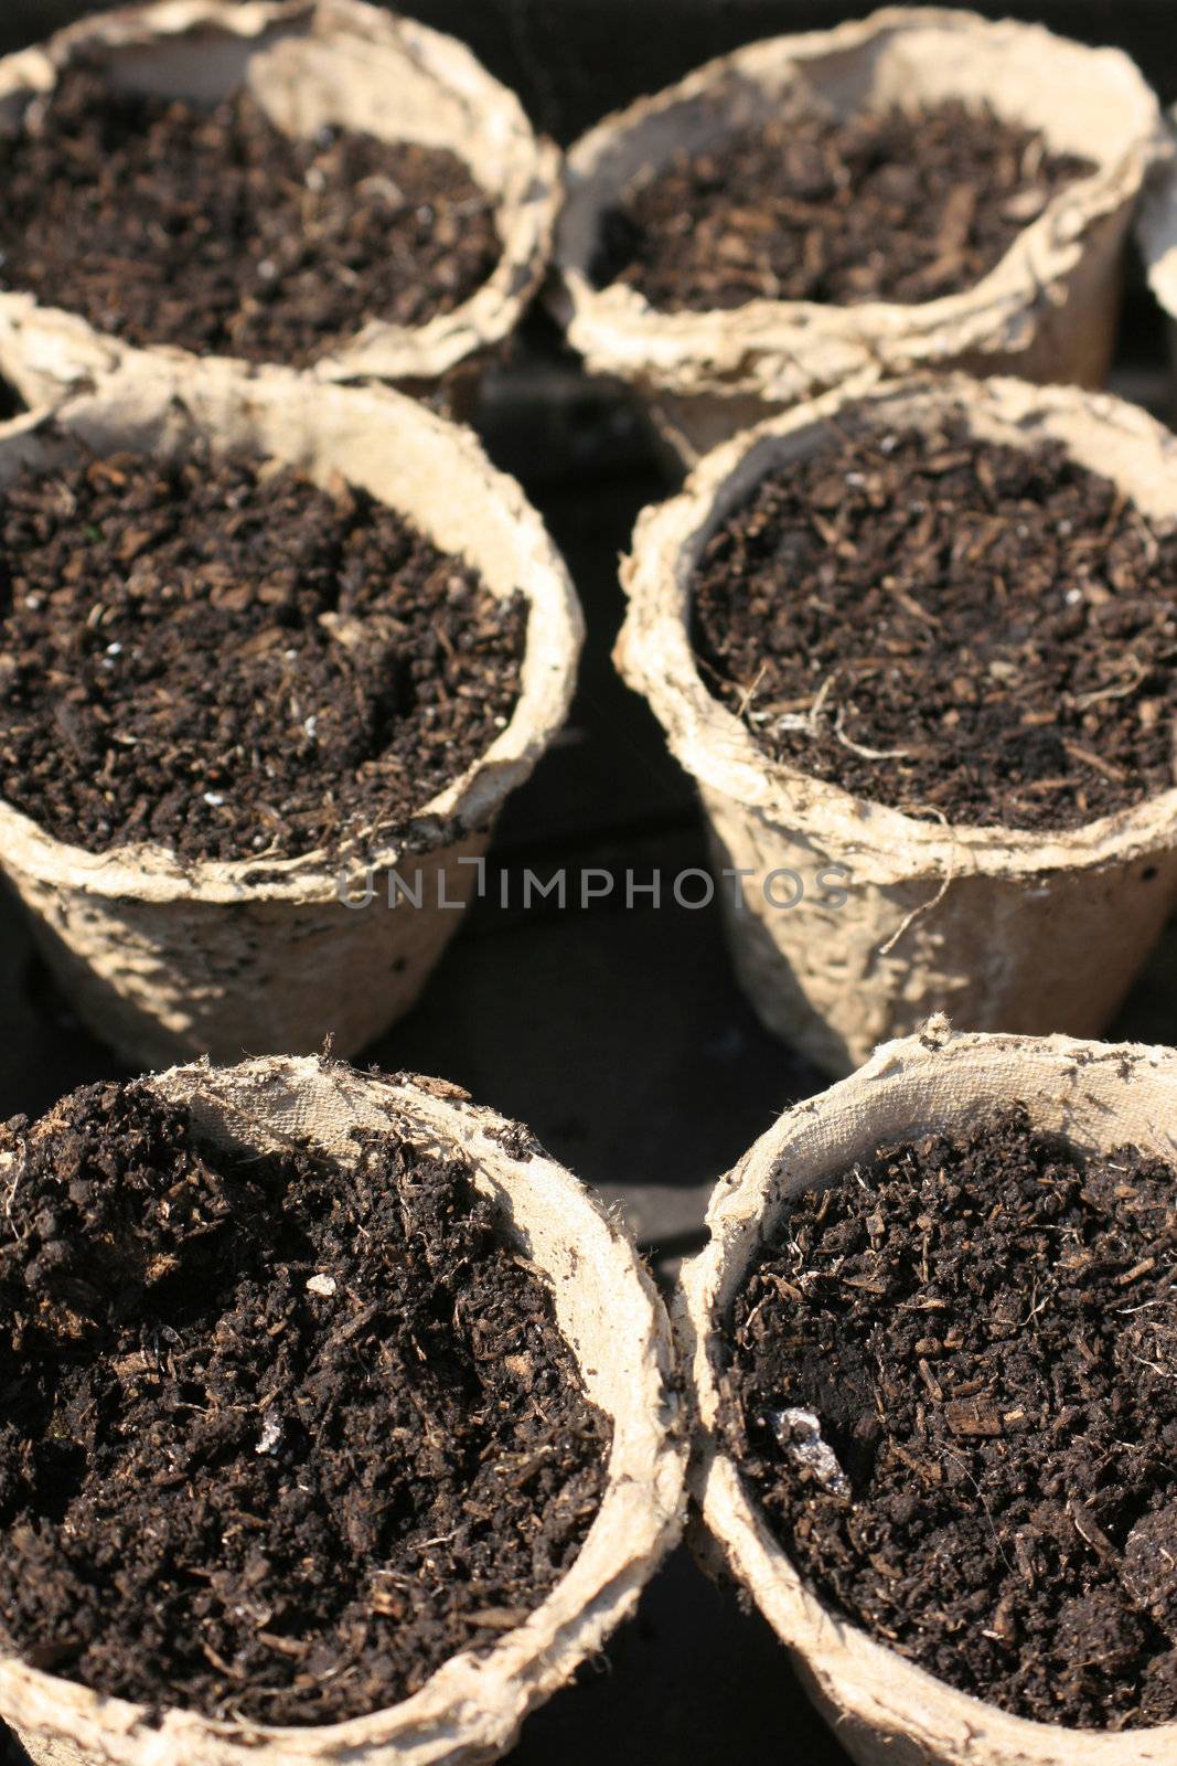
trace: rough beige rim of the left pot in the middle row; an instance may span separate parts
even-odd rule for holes
[[[244,381],[231,369],[217,369],[214,364],[205,364],[199,374],[178,374],[150,360],[129,358],[118,374],[102,378],[94,392],[74,394],[0,424],[0,459],[5,454],[35,459],[42,443],[58,445],[62,434],[109,434],[120,422],[127,427],[148,426],[152,434],[164,438],[171,424],[171,449],[184,452],[196,436],[210,436],[215,443],[217,433],[229,422],[247,427],[254,424],[254,433],[259,433],[259,426],[268,420],[274,429],[284,411],[302,411],[307,433],[314,429],[326,436],[334,426],[339,436],[355,438],[364,426],[374,442],[385,434],[390,440],[395,436],[390,470],[399,475],[397,487],[386,493],[372,489],[378,500],[429,532],[431,523],[422,521],[415,507],[415,479],[420,480],[431,468],[443,470],[450,494],[461,487],[468,502],[473,500],[471,507],[482,509],[487,528],[484,551],[489,555],[492,544],[510,547],[515,588],[528,600],[528,638],[519,699],[506,728],[445,789],[413,811],[395,835],[378,832],[369,851],[348,851],[334,864],[325,862],[321,853],[281,860],[258,855],[229,862],[182,862],[155,842],[94,853],[56,839],[0,796],[0,864],[5,869],[58,888],[145,902],[339,899],[344,879],[371,879],[374,872],[395,867],[406,855],[434,851],[468,832],[485,830],[565,722],[584,641],[584,620],[563,558],[517,480],[491,464],[469,429],[438,417],[390,387],[319,385],[296,374]],[[180,440],[175,438],[176,422],[187,426]],[[259,452],[298,466],[295,440],[289,449],[289,454],[265,447]],[[480,567],[476,547],[446,547],[438,535],[429,537],[443,553],[464,553]],[[351,844],[358,839],[360,835]],[[263,874],[261,879],[258,872]]]

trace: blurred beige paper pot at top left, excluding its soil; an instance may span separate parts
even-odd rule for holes
[[[390,325],[372,314],[353,341],[307,373],[392,381],[436,396],[454,415],[468,413],[482,366],[515,328],[547,268],[559,155],[533,134],[514,92],[464,44],[364,0],[120,7],[0,60],[0,143],[4,131],[21,127],[30,101],[53,90],[60,69],[95,58],[122,87],[150,94],[217,102],[245,83],[293,136],[314,136],[330,124],[455,152],[496,200],[503,249],[489,281],[425,325]],[[32,390],[46,397],[132,353],[79,314],[41,306],[30,293],[0,293],[0,346],[25,376],[39,376]],[[168,344],[146,353],[196,362]],[[251,374],[275,371],[238,366]]]

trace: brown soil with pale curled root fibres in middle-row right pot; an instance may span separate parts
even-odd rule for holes
[[[1175,782],[1177,532],[1059,445],[851,417],[722,523],[693,609],[764,752],[870,802],[1057,830]]]

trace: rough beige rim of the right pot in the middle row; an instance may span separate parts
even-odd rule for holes
[[[676,496],[642,510],[621,567],[628,611],[614,662],[623,678],[646,696],[671,752],[704,791],[812,837],[822,851],[852,855],[856,874],[866,879],[893,883],[969,872],[1034,878],[1124,864],[1177,844],[1177,788],[1069,830],[923,821],[769,759],[741,719],[709,694],[690,645],[690,570],[715,523],[787,457],[791,443],[803,450],[805,431],[817,438],[824,424],[851,406],[886,417],[888,406],[902,410],[905,403],[928,410],[956,406],[974,426],[1004,424],[1009,434],[1002,431],[1002,438],[1027,449],[1082,424],[1113,438],[1131,456],[1131,473],[1128,466],[1108,472],[1106,461],[1092,470],[1117,482],[1138,480],[1154,496],[1166,479],[1170,487],[1177,482],[1177,438],[1110,394],[1002,376],[919,374],[886,383],[859,376],[732,436],[699,461]],[[1177,517],[1177,503],[1172,516]]]

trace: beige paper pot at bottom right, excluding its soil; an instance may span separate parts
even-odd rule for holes
[[[753,1596],[861,1766],[1173,1766],[1177,1724],[1099,1734],[1009,1717],[836,1618],[769,1533],[722,1441],[731,1307],[791,1197],[828,1187],[881,1143],[963,1128],[1013,1098],[1036,1127],[1080,1146],[1112,1151],[1131,1141],[1172,1158],[1173,1051],[1069,1037],[963,1037],[942,1021],[926,1030],[923,1038],[888,1044],[861,1072],[787,1111],[716,1183],[711,1241],[683,1272],[676,1316],[699,1418],[688,1475],[695,1543]]]

